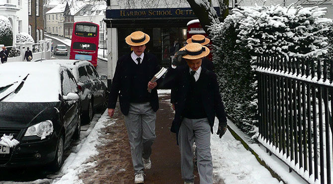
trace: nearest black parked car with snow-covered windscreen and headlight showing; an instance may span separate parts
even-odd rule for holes
[[[0,65],[0,167],[50,164],[59,170],[64,150],[81,131],[80,96],[70,69],[42,62]],[[3,136],[4,137],[4,136]]]

